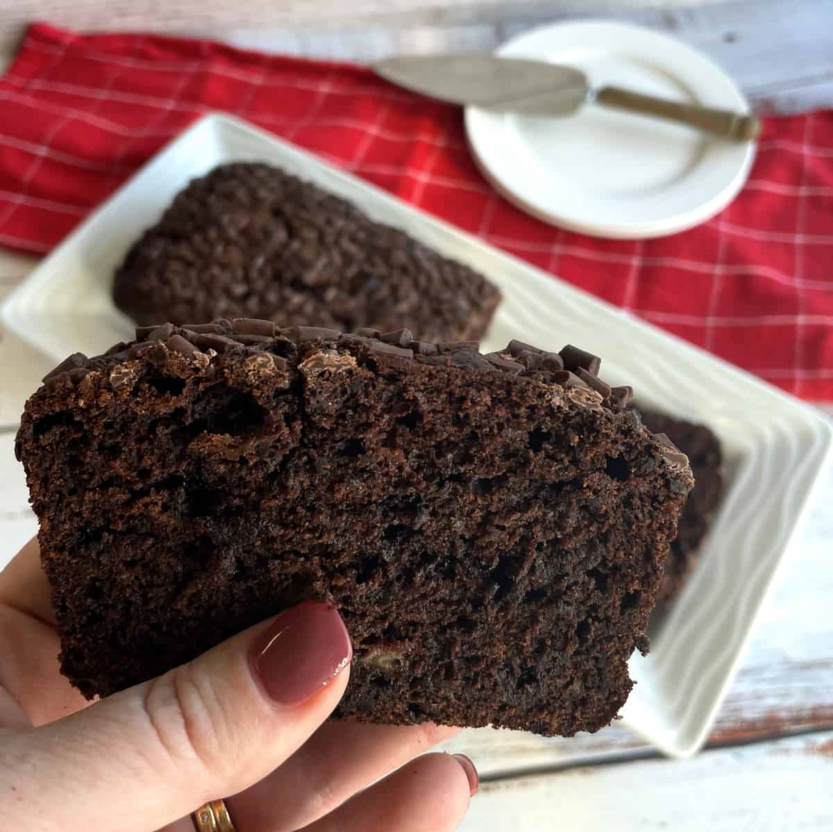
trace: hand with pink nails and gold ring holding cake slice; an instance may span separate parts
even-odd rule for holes
[[[58,673],[58,649],[32,541],[0,574],[0,818],[10,829],[193,832],[190,813],[223,797],[237,832],[445,832],[476,790],[465,757],[412,760],[453,729],[325,724],[351,649],[324,605],[299,605],[92,705]]]

